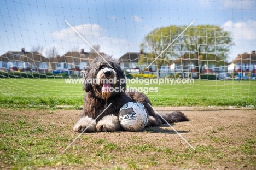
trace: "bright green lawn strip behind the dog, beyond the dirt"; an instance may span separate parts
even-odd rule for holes
[[[148,92],[158,106],[237,106],[255,107],[256,80],[195,80],[194,84],[127,84],[127,87],[156,87]],[[82,84],[66,84],[64,79],[0,79],[0,107],[81,109]]]

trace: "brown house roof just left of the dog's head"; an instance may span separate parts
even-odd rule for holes
[[[103,52],[99,53],[101,56],[106,56]],[[79,63],[79,62],[92,62],[96,57],[100,57],[96,52],[67,52],[61,57],[50,58],[50,62],[66,62],[66,63]]]

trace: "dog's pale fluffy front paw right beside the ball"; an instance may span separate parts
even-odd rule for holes
[[[117,116],[107,115],[104,116],[96,125],[98,132],[115,132],[120,129],[120,122]]]

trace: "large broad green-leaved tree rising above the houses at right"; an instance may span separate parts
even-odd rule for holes
[[[156,28],[144,38],[141,48],[150,52],[148,58],[140,58],[143,63],[148,60],[152,62],[187,26],[171,25]],[[158,69],[170,62],[171,57],[177,58],[183,54],[192,54],[197,72],[200,73],[202,66],[207,61],[226,61],[231,47],[232,38],[230,32],[216,25],[191,26],[186,30],[166,51],[155,61]],[[191,58],[190,58],[191,59]]]

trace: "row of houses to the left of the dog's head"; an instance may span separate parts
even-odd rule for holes
[[[96,57],[100,57],[96,52],[84,52],[82,49],[80,52],[46,58],[38,52],[26,52],[22,48],[21,51],[8,51],[0,56],[0,70],[37,73],[68,71],[69,74],[80,74]]]

